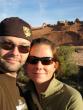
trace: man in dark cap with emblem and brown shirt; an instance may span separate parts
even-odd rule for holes
[[[18,17],[0,23],[0,110],[28,110],[21,97],[16,76],[30,47],[31,27]]]

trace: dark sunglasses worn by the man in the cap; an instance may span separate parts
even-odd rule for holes
[[[17,45],[15,45],[12,42],[0,42],[0,48],[5,49],[5,50],[13,50]],[[24,46],[24,45],[18,45],[18,50],[21,53],[28,53],[30,50],[29,46]]]

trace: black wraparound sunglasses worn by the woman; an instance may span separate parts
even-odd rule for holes
[[[52,57],[41,57],[40,58],[40,57],[35,57],[35,56],[29,56],[26,62],[28,64],[37,64],[38,61],[41,61],[43,65],[50,65],[53,63],[54,58]]]

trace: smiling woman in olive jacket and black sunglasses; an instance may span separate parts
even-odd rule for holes
[[[27,88],[37,108],[33,110],[83,110],[80,93],[55,78],[58,67],[54,43],[45,38],[34,39],[25,64],[30,78]]]

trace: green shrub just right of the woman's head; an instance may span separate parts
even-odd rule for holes
[[[79,72],[79,67],[75,64],[72,54],[75,51],[73,46],[60,46],[58,48],[58,58],[60,61],[60,71],[63,76],[70,76]],[[60,74],[60,75],[61,75]]]

